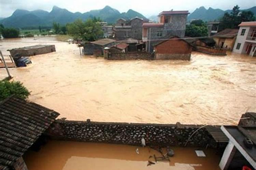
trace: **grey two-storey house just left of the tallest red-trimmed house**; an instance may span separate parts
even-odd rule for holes
[[[120,40],[124,38],[142,39],[142,24],[148,22],[148,19],[139,17],[125,20],[119,18],[113,28],[114,38]]]

